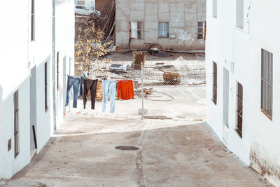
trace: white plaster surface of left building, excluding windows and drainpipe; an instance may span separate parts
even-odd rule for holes
[[[57,0],[57,48],[63,51],[65,64],[73,61],[74,1]],[[8,1],[2,3],[8,7]],[[52,107],[52,1],[35,2],[35,41],[31,41],[31,0],[18,0],[14,11],[3,8],[0,12],[0,179],[9,179],[25,167],[31,159],[30,127],[36,121],[37,153],[53,133]],[[48,111],[45,111],[45,72],[48,62]],[[60,62],[63,62],[61,60]],[[36,90],[31,89],[30,72],[36,68]],[[61,79],[68,67],[60,69]],[[71,68],[73,69],[73,67]],[[68,71],[67,71],[68,72]],[[73,72],[73,71],[72,71]],[[32,82],[32,83],[34,83]],[[65,82],[65,81],[64,81]],[[63,97],[66,83],[61,81],[61,94],[57,97],[60,107],[57,123],[63,120]],[[13,93],[19,90],[19,154],[14,156],[14,106]],[[32,93],[31,93],[32,92]],[[36,97],[32,105],[30,97]],[[34,107],[36,109],[34,109]],[[36,112],[34,112],[36,111]],[[33,115],[33,116],[32,116]],[[33,137],[32,137],[33,138]],[[8,139],[12,148],[8,151]],[[31,140],[31,141],[30,141]]]

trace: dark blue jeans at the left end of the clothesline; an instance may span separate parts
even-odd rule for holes
[[[83,96],[83,78],[78,76],[68,76],[66,88],[65,106],[69,103],[69,91],[73,87],[73,108],[77,108],[78,95]]]

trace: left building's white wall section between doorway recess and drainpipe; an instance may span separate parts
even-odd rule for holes
[[[29,22],[30,25],[30,22]],[[30,28],[31,26],[29,26]],[[30,32],[29,32],[30,34]],[[30,37],[30,36],[29,36]],[[30,41],[30,38],[29,38]],[[29,62],[36,65],[37,153],[52,134],[52,1],[35,3],[35,41],[29,42]],[[45,112],[45,70],[48,63],[48,111]]]

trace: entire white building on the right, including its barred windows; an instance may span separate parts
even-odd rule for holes
[[[207,0],[207,123],[280,186],[277,0]],[[274,25],[275,27],[272,27]]]

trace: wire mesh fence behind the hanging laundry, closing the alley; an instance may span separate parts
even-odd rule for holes
[[[80,99],[78,110],[86,113],[102,114],[102,80],[116,81],[116,93],[119,81],[131,80],[133,83],[133,99],[117,97],[115,113],[111,116],[126,118],[141,118],[142,115],[142,78],[141,67],[133,63],[132,54],[112,54],[109,60],[95,62],[88,71],[80,64],[75,64],[76,76],[87,76],[98,79],[95,109],[90,109],[87,102],[86,110]],[[144,114],[154,118],[186,118],[193,115],[193,109],[200,113],[203,105],[204,84],[206,83],[204,55],[169,55],[158,57],[146,56],[143,69]],[[88,97],[90,98],[90,97]],[[110,100],[106,103],[106,113],[109,113]],[[115,99],[115,98],[113,98]],[[200,116],[200,115],[198,115]]]

